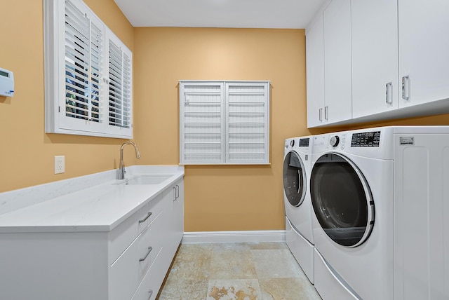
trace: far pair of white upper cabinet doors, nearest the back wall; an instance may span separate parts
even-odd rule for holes
[[[351,6],[332,1],[306,29],[307,127],[351,118]]]

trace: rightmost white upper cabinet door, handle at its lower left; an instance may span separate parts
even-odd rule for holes
[[[399,106],[449,98],[449,1],[398,0],[398,12]]]

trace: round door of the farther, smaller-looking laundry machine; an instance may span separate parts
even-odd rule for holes
[[[300,206],[306,195],[304,164],[295,151],[290,151],[283,160],[283,191],[288,202]]]

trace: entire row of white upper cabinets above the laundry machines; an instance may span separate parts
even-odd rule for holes
[[[448,16],[449,1],[328,1],[306,29],[308,127],[449,113]]]

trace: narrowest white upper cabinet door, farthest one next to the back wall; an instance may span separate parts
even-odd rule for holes
[[[306,31],[307,127],[324,120],[324,29],[323,13],[317,15]]]

